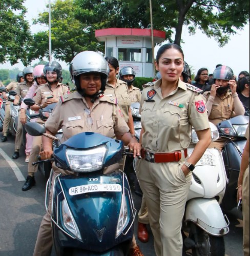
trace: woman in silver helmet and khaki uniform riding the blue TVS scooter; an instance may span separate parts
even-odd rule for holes
[[[129,127],[122,118],[116,102],[103,95],[109,74],[105,58],[92,51],[80,52],[71,62],[70,74],[77,92],[61,98],[45,123],[46,132],[55,135],[62,128],[61,142],[86,131],[98,132],[109,137],[115,135],[130,147],[134,157],[140,155],[140,144],[129,133]],[[52,140],[43,137],[43,148],[44,151],[40,152],[41,159],[50,159],[53,153]],[[54,164],[52,168],[52,184],[58,173],[72,174],[70,171],[57,168]],[[50,255],[51,248],[50,215],[46,213],[40,225],[33,255]]]

